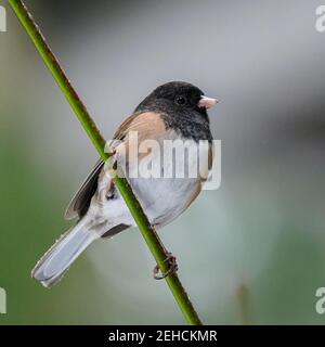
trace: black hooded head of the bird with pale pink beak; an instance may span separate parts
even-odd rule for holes
[[[173,128],[185,137],[190,131],[192,137],[195,128],[198,132],[200,128],[209,130],[207,110],[216,103],[214,99],[206,98],[199,88],[172,81],[156,88],[140,103],[135,113],[157,112],[161,114],[167,128]]]

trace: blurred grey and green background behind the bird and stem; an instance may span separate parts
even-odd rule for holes
[[[156,86],[221,103],[222,184],[160,233],[205,323],[323,324],[325,34],[318,1],[26,1],[106,138]],[[136,229],[52,290],[30,279],[98,155],[5,1],[0,33],[0,324],[182,324]],[[248,300],[248,303],[247,303]],[[247,312],[246,304],[248,305]],[[243,318],[244,316],[244,318]],[[248,316],[248,317],[247,317]],[[246,318],[245,318],[246,317]]]

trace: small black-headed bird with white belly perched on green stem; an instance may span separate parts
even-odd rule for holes
[[[156,229],[179,217],[202,191],[213,160],[213,138],[207,111],[217,102],[190,82],[166,82],[154,89],[135,107],[109,142],[115,163],[122,167],[121,172]],[[200,141],[206,141],[207,172],[197,177],[177,177],[172,169],[171,176],[164,177],[164,172],[170,171],[171,162],[177,155],[173,154],[172,159],[161,164],[160,177],[133,177],[130,172],[140,159],[145,158],[145,153],[140,153],[139,143],[132,143],[131,133],[136,133],[140,144],[153,140],[160,146],[167,141],[178,140],[186,141],[190,147],[197,147]],[[131,150],[135,151],[135,158],[127,156]],[[156,155],[155,152],[151,152],[152,156]],[[186,172],[191,166],[197,166],[197,153],[188,154],[187,159],[183,160]],[[65,219],[77,219],[75,226],[55,242],[31,271],[31,277],[43,286],[56,284],[95,240],[110,239],[123,230],[136,227],[109,170],[112,167],[107,168],[104,160],[100,159],[66,208]]]

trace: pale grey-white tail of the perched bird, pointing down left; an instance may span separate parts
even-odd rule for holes
[[[81,219],[42,256],[31,271],[31,277],[47,287],[54,285],[73,261],[98,237],[99,235]]]

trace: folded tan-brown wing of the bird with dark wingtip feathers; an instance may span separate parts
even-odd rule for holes
[[[156,139],[164,130],[165,125],[159,114],[147,112],[128,117],[115,132],[114,140],[127,141],[129,131],[138,131],[139,143],[141,143],[143,139]],[[65,219],[81,218],[87,213],[98,189],[98,179],[103,166],[104,162],[100,159],[88,175],[68,204],[64,215]]]

